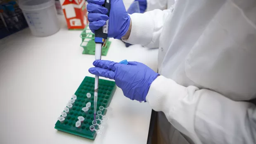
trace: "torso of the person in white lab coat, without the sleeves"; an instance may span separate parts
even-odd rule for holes
[[[164,22],[159,73],[234,100],[256,97],[256,1],[178,0]]]

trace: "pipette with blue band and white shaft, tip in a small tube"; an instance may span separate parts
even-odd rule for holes
[[[110,0],[105,0],[103,7],[108,9],[107,16],[109,16],[110,12]],[[101,59],[101,49],[102,45],[104,45],[105,40],[107,39],[109,29],[109,20],[106,21],[106,24],[102,26],[100,29],[95,31],[95,60]],[[95,75],[95,85],[94,85],[94,120],[96,117],[97,110],[97,99],[98,99],[98,87],[99,87],[99,76]]]

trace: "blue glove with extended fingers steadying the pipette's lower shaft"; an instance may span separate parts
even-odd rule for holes
[[[145,101],[151,83],[159,76],[145,64],[128,61],[128,65],[114,61],[96,60],[95,67],[89,72],[116,80],[116,85],[123,90],[123,94],[132,100]]]

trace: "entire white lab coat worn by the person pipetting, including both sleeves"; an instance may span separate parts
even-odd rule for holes
[[[256,144],[256,1],[178,0],[130,15],[126,42],[159,47],[146,100],[196,144]]]

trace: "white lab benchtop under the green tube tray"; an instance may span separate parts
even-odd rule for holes
[[[56,130],[63,111],[85,76],[92,76],[93,55],[82,54],[81,31],[61,29],[34,37],[29,28],[0,40],[0,144],[146,144],[151,108],[132,101],[116,89],[107,112],[109,120],[95,141]],[[111,61],[139,61],[157,70],[157,50],[125,47],[111,40]]]

